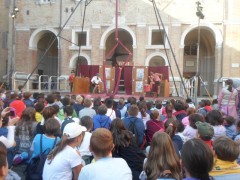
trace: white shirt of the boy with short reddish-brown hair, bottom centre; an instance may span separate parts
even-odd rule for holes
[[[132,180],[132,171],[122,158],[105,157],[81,169],[78,180]]]

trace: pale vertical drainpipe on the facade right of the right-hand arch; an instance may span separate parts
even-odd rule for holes
[[[219,94],[220,91],[220,80],[223,77],[223,50],[224,50],[224,33],[225,33],[225,29],[224,29],[224,17],[225,17],[225,7],[226,7],[226,0],[223,0],[223,12],[222,12],[222,37],[223,37],[223,42],[222,42],[222,49],[221,49],[221,67],[220,67],[220,77],[217,80],[217,94]]]

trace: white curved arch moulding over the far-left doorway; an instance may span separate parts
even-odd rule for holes
[[[53,29],[53,28],[39,28],[36,29],[30,39],[29,39],[29,49],[31,50],[37,50],[37,43],[38,41],[41,39],[42,35],[46,32],[52,32],[53,34],[55,34],[55,36],[58,35],[57,30]],[[59,41],[58,41],[59,42]]]

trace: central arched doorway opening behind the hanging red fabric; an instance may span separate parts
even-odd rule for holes
[[[124,30],[124,29],[119,29],[118,30],[118,38],[119,40],[130,50],[130,52],[133,53],[133,38],[131,34]],[[113,31],[106,39],[105,43],[105,57],[107,54],[112,50],[112,48],[116,45],[116,40],[115,40],[115,31]],[[116,62],[118,63],[119,66],[122,66],[122,64],[127,60],[129,54],[128,52],[122,47],[118,46],[117,49],[115,50],[115,53],[113,53],[110,58],[107,59],[106,65],[107,66],[115,66],[115,63],[113,62],[115,58],[114,54],[116,55]],[[129,60],[129,62],[132,62],[133,58]],[[127,71],[132,71],[132,67],[127,68],[125,67],[122,70],[121,77],[120,77],[120,85],[119,85],[119,90],[118,93],[125,93],[125,85],[124,85],[124,79],[125,79],[125,73],[131,74],[131,72]],[[115,68],[115,83],[117,82],[119,74],[119,69],[118,67]],[[129,77],[130,79],[132,77]],[[115,84],[116,85],[116,84]]]

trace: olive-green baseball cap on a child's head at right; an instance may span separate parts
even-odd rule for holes
[[[196,126],[198,129],[198,134],[200,135],[201,138],[203,139],[212,139],[214,135],[214,129],[213,127],[206,123],[206,122],[196,122]]]

